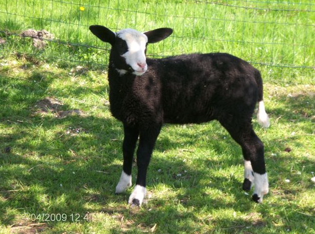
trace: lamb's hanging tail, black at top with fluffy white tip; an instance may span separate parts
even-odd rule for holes
[[[258,86],[258,111],[257,111],[257,120],[260,126],[268,128],[270,126],[269,117],[264,109],[263,103],[263,89],[262,89],[262,79],[260,72],[255,70],[255,78]]]

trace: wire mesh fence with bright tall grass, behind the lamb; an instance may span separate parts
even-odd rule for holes
[[[220,51],[269,81],[315,84],[313,0],[0,0],[0,53],[105,69],[110,47],[91,24],[115,32],[173,28],[148,56]]]

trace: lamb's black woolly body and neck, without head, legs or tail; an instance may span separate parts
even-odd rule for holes
[[[113,58],[110,59],[110,61]],[[117,64],[117,63],[115,63]],[[229,54],[148,59],[141,76],[109,66],[112,115],[128,125],[249,120],[262,100],[260,73]]]

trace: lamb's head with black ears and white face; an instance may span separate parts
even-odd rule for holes
[[[172,29],[160,28],[144,33],[133,29],[123,29],[117,33],[101,25],[91,25],[90,31],[102,41],[112,45],[111,59],[120,75],[131,71],[142,75],[147,71],[146,52],[148,43],[155,43],[167,38]]]

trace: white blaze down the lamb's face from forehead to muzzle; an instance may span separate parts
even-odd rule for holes
[[[126,63],[132,67],[134,74],[142,75],[148,69],[146,55],[144,54],[148,37],[133,29],[120,30],[117,37],[125,40],[128,45],[128,51],[122,55]]]

